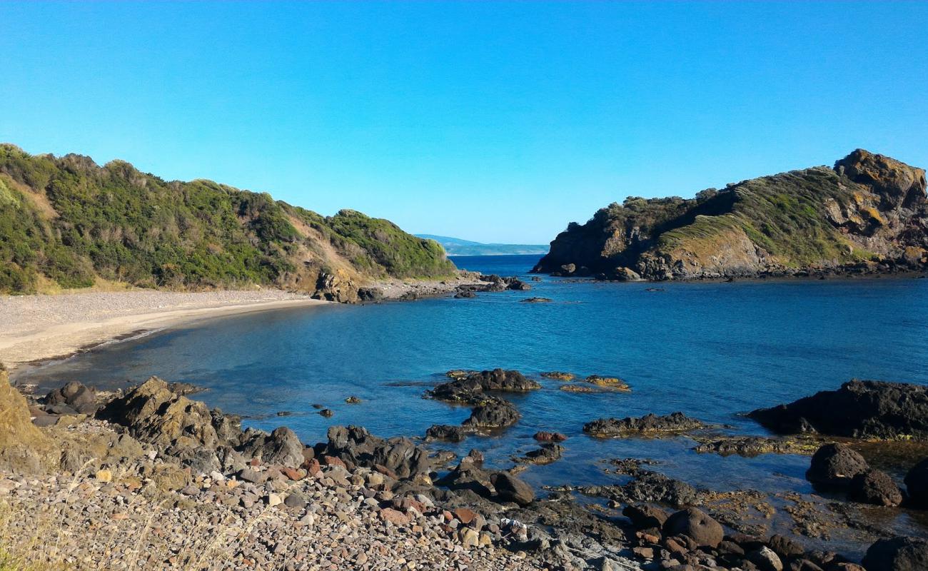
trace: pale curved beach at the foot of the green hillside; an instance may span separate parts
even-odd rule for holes
[[[2,296],[0,362],[14,369],[133,333],[203,318],[329,303],[280,290]]]

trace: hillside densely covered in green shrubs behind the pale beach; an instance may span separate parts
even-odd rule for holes
[[[455,272],[432,240],[350,210],[321,216],[210,180],[0,145],[0,292],[261,284],[342,302],[382,278]]]

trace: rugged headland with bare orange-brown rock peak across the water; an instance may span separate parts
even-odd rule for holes
[[[696,198],[628,198],[571,223],[536,272],[600,279],[869,274],[928,267],[925,172],[857,149]]]

